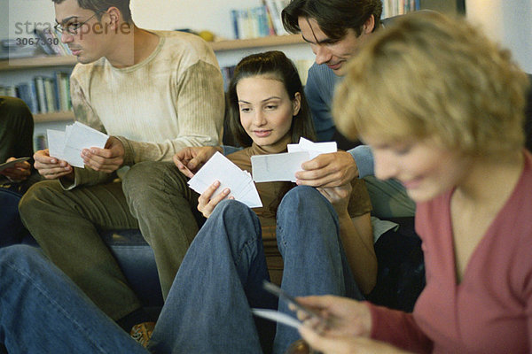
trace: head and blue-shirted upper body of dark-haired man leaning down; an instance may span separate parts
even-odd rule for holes
[[[301,33],[316,55],[309,69],[305,95],[309,100],[319,141],[340,138],[340,149],[348,142],[335,129],[331,115],[336,83],[356,49],[380,27],[380,0],[293,0],[282,12],[283,24],[291,33]]]

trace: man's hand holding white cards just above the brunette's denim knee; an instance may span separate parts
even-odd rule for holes
[[[346,151],[318,155],[301,165],[296,183],[311,187],[339,187],[358,177],[355,160]]]

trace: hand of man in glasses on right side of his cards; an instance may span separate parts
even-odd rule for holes
[[[110,136],[104,149],[82,150],[83,163],[95,171],[113,173],[124,163],[125,149],[121,141]]]

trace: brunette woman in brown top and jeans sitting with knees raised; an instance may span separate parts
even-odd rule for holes
[[[231,80],[229,102],[231,127],[248,146],[229,158],[248,171],[252,155],[286,151],[301,136],[313,138],[301,80],[280,51],[243,58]],[[364,181],[320,191],[295,187],[286,193],[290,187],[286,182],[259,183],[265,207],[256,213],[234,200],[221,202],[229,190],[211,198],[216,183],[200,196],[199,209],[208,219],[177,272],[149,350],[248,353],[261,352],[263,345],[269,351],[271,343],[260,337],[250,311],[250,306],[278,307],[277,299],[262,290],[262,281],[270,280],[262,236],[270,235],[272,241],[277,234],[285,266],[281,286],[293,294],[362,299],[361,290],[372,289],[377,267]],[[286,305],[280,307],[286,311]],[[77,335],[74,331],[61,345]],[[285,352],[299,337],[296,330],[279,326],[274,352]]]

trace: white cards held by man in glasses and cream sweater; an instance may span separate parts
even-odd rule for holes
[[[84,168],[82,150],[106,147],[108,135],[80,122],[68,125],[64,132],[47,130],[48,149],[52,158],[65,160],[74,167]]]

